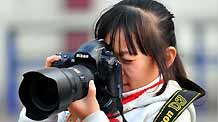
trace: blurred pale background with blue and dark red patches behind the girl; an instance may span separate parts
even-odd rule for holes
[[[75,51],[91,40],[100,11],[117,1],[1,0],[0,122],[18,119],[22,74],[44,68],[47,56]],[[218,2],[160,2],[175,14],[178,48],[188,76],[207,92],[194,103],[197,122],[217,122]]]

